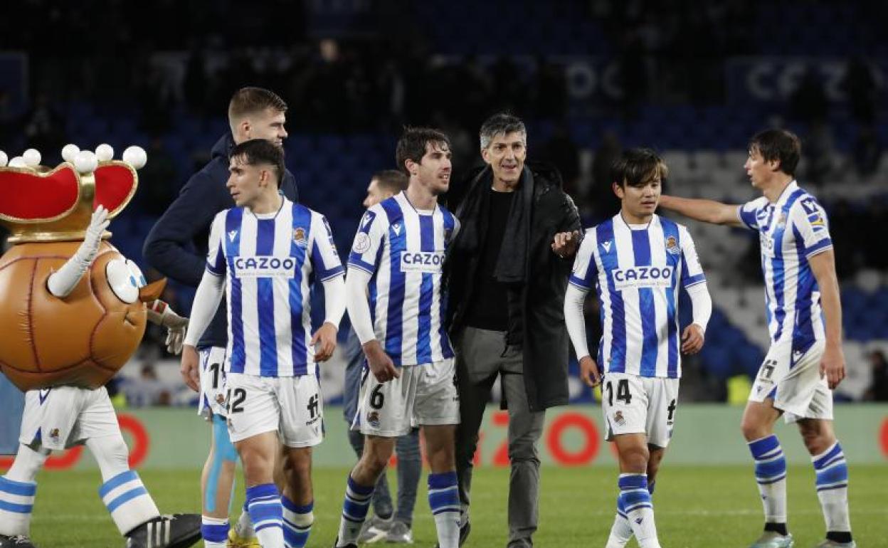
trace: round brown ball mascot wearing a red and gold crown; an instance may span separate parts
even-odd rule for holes
[[[0,224],[12,248],[0,257],[0,370],[25,392],[20,445],[0,477],[0,548],[30,548],[36,474],[52,449],[86,444],[99,464],[99,496],[126,548],[185,548],[200,538],[199,514],[161,515],[127,463],[104,384],[136,351],[147,321],[181,350],[187,320],[158,300],[139,267],[106,240],[108,223],[138,186],[145,151],[123,161],[67,145],[65,162],[40,165],[31,148],[0,152]]]

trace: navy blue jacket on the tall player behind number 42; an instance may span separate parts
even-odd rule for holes
[[[230,134],[213,145],[210,163],[188,179],[176,200],[148,233],[142,254],[148,264],[164,276],[192,287],[201,283],[207,264],[210,224],[219,211],[234,207],[234,200],[226,188],[228,151],[232,147],[234,139]],[[293,203],[298,203],[296,179],[289,170],[281,181],[281,192]],[[194,250],[188,248],[188,243],[194,245]],[[227,330],[226,301],[223,299],[199,345],[225,346]]]

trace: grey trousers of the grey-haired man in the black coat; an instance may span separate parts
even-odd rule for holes
[[[496,376],[502,376],[509,406],[509,548],[533,546],[540,488],[540,457],[536,442],[543,434],[545,411],[531,412],[524,389],[519,348],[505,345],[504,331],[466,328],[456,341],[460,425],[456,429],[456,473],[464,514],[469,511],[472,460],[478,430]],[[468,519],[468,516],[465,516]]]

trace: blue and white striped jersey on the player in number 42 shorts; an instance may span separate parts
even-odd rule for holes
[[[210,274],[226,276],[226,371],[314,375],[311,285],[344,273],[327,219],[284,199],[261,218],[220,211],[210,228]]]

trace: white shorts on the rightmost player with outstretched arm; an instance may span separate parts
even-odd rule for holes
[[[821,377],[826,343],[815,341],[805,350],[793,350],[790,341],[772,345],[758,369],[749,401],[771,398],[787,423],[801,418],[832,420],[832,392]]]

